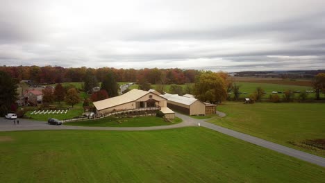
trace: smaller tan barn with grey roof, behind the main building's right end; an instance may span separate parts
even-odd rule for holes
[[[160,95],[167,98],[167,107],[172,110],[183,112],[190,116],[215,114],[216,105],[210,103],[203,103],[197,98],[178,96],[177,94],[163,94]]]

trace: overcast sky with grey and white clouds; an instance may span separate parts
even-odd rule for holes
[[[325,69],[325,1],[0,0],[0,63]]]

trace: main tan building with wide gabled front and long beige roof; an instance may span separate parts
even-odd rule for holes
[[[126,94],[94,102],[98,115],[112,112],[155,108],[161,110],[166,118],[174,119],[175,113],[167,107],[167,99],[153,92],[132,89]]]

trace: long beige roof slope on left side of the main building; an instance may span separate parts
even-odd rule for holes
[[[143,91],[140,89],[132,89],[130,92],[127,92],[126,94],[115,96],[112,98],[107,98],[102,101],[94,102],[94,106],[97,110],[103,110],[110,107],[114,107],[117,105],[122,105],[124,103],[130,103],[132,101],[136,101],[142,96],[145,96],[151,92]]]

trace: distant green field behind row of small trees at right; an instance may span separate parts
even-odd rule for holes
[[[269,94],[272,92],[283,92],[287,89],[291,89],[292,91],[306,91],[306,90],[314,90],[313,87],[306,86],[296,86],[296,85],[278,85],[278,84],[270,84],[270,83],[255,83],[255,82],[236,82],[237,85],[240,85],[240,92],[247,93],[241,94],[240,97],[249,96],[249,94],[253,94],[256,91],[257,87],[262,87],[267,94],[263,96],[264,98],[269,98]],[[279,94],[283,96],[283,94]],[[295,98],[297,98],[299,94],[295,94]],[[322,95],[324,97],[324,95]],[[315,93],[308,94],[308,98],[315,98]]]

